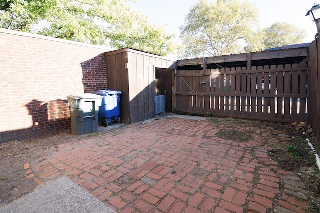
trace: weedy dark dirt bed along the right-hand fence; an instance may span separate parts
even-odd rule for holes
[[[270,151],[270,156],[277,162],[283,170],[291,171],[301,178],[306,185],[311,197],[307,201],[308,212],[320,212],[320,170],[316,164],[315,152],[308,145],[308,141],[314,149],[320,152],[320,144],[313,134],[303,134],[294,127],[285,127],[284,131],[290,137],[286,142],[279,143],[275,149]]]

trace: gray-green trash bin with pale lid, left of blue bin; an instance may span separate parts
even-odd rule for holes
[[[67,95],[71,108],[71,133],[81,135],[98,130],[99,106],[103,96],[85,93]]]

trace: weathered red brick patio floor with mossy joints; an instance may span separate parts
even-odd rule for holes
[[[223,140],[220,129],[254,139]],[[268,156],[275,131],[165,116],[52,147],[28,173],[38,182],[66,176],[121,213],[303,213],[306,187]]]

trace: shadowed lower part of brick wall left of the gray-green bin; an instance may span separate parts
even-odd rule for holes
[[[33,99],[25,104],[32,116],[32,126],[0,133],[0,143],[39,136],[45,133],[70,128],[70,107],[67,100],[43,102]]]

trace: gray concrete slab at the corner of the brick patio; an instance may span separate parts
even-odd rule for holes
[[[61,177],[0,208],[0,213],[115,213],[99,199]]]

